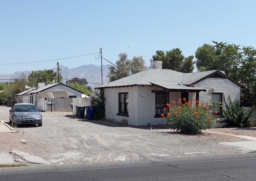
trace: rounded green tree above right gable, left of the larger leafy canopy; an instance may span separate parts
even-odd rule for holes
[[[207,54],[209,52],[214,53],[214,51],[215,51],[214,47],[210,44],[204,44],[203,46],[198,47],[195,52],[196,68],[197,69],[206,68],[210,63],[210,59],[207,56]]]

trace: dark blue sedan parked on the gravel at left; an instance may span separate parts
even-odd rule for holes
[[[9,115],[10,124],[37,124],[38,126],[43,124],[43,117],[34,104],[14,104]]]

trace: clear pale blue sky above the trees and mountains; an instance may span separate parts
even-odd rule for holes
[[[256,48],[254,0],[0,0],[0,64],[61,59],[99,52],[142,55],[180,48],[185,57],[204,43]],[[195,60],[195,58],[194,58]],[[0,73],[101,65],[95,55],[0,65]],[[103,60],[103,64],[109,64]]]

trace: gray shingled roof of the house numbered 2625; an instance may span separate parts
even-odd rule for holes
[[[97,88],[110,88],[110,87],[122,87],[122,86],[134,86],[134,85],[155,85],[166,89],[177,90],[203,90],[201,88],[191,87],[197,81],[200,81],[207,76],[219,73],[218,70],[181,73],[170,69],[147,69],[139,73],[124,77],[113,82],[109,82]],[[223,73],[222,76],[230,79]],[[234,80],[230,79],[235,82]],[[239,83],[235,82],[239,86]],[[206,90],[204,90],[206,91]]]

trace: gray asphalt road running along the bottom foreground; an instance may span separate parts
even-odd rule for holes
[[[27,180],[97,180],[97,181],[253,181],[256,157],[220,160],[152,163],[147,165],[97,166],[44,166],[8,168],[0,172],[1,181]],[[36,170],[36,168],[38,170]]]

